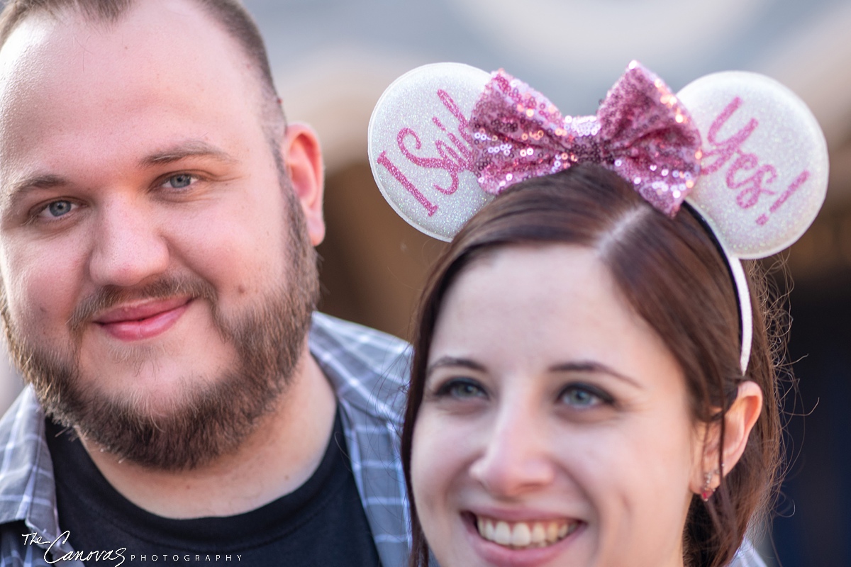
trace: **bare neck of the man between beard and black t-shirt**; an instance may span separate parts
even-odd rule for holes
[[[334,427],[336,397],[305,349],[274,411],[237,448],[206,466],[165,472],[142,468],[83,439],[94,464],[130,502],[174,519],[231,516],[297,489],[322,461]]]

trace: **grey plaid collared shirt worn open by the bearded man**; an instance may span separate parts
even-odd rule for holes
[[[381,564],[402,567],[408,558],[409,524],[398,433],[408,380],[408,345],[317,313],[310,346],[337,392],[351,471]],[[83,567],[79,560],[57,561],[73,550],[60,539],[44,414],[31,388],[0,421],[0,451],[0,567]],[[46,543],[33,542],[25,534],[37,534]],[[111,567],[119,560],[103,563]]]

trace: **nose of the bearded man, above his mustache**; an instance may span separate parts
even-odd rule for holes
[[[98,210],[89,273],[98,286],[135,286],[168,268],[168,243],[149,203],[117,197]]]

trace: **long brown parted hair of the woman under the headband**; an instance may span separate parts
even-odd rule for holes
[[[402,436],[410,495],[411,565],[428,564],[429,551],[411,487],[411,440],[423,398],[431,338],[448,288],[471,262],[505,246],[572,244],[597,251],[624,298],[663,339],[687,382],[695,420],[717,422],[743,380],[764,397],[744,454],[708,502],[695,495],[683,532],[688,567],[721,567],[740,547],[756,513],[768,509],[779,483],[780,398],[775,354],[769,342],[765,275],[749,272],[753,343],[745,377],[740,368],[740,314],[728,264],[717,241],[694,211],[676,218],[656,211],[631,184],[602,167],[580,165],[529,179],[506,190],[467,223],[438,260],[426,284],[414,332],[414,360]],[[719,411],[718,408],[721,408]],[[719,468],[722,450],[718,451]]]

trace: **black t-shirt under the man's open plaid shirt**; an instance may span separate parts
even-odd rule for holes
[[[339,413],[323,460],[304,485],[248,513],[199,519],[162,518],[137,507],[112,488],[76,436],[47,425],[60,529],[71,532],[87,567],[113,567],[122,558],[125,567],[380,564]]]

